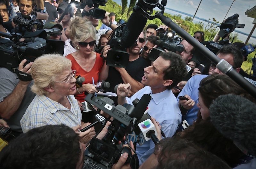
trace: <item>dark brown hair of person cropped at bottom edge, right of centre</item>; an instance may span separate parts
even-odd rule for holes
[[[192,141],[175,136],[162,139],[156,145],[154,154],[158,156],[155,169],[230,169],[220,158]]]

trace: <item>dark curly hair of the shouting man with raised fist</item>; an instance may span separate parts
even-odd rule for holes
[[[171,62],[170,66],[164,70],[164,80],[172,80],[172,84],[167,89],[172,89],[188,74],[186,63],[179,54],[174,52],[164,52],[160,55],[164,60]]]

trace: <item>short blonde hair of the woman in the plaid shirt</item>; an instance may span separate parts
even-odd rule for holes
[[[36,58],[31,66],[32,92],[47,95],[49,92],[44,88],[54,86],[56,77],[64,70],[71,70],[71,65],[71,61],[60,54],[44,54]]]

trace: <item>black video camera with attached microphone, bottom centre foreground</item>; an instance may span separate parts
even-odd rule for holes
[[[144,95],[143,95],[144,96]],[[131,150],[122,148],[119,150],[116,145],[122,140],[125,134],[131,134],[138,125],[150,101],[147,96],[141,98],[136,107],[130,104],[114,106],[112,100],[108,97],[97,98],[92,94],[85,97],[88,104],[92,104],[103,110],[109,116],[113,117],[108,132],[102,140],[93,138],[88,148],[84,151],[84,169],[85,168],[111,168],[115,164],[120,155],[124,152],[128,153],[127,163],[131,159]],[[141,102],[142,101],[142,102]],[[139,105],[140,104],[140,105]]]

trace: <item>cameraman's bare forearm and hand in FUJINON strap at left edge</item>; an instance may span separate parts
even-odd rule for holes
[[[20,62],[19,70],[30,74],[30,67],[32,66],[33,62],[30,62],[28,65],[23,67],[26,61],[27,60],[24,59]],[[11,116],[18,110],[30,82],[31,81],[19,81],[12,93],[2,102],[0,102],[0,116],[2,118],[10,119]]]

